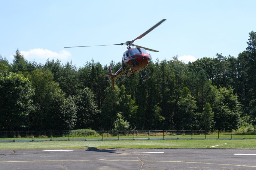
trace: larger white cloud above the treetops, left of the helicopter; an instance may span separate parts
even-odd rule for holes
[[[20,51],[21,54],[28,60],[31,61],[35,59],[35,61],[40,60],[42,62],[45,62],[48,58],[49,59],[59,59],[59,60],[66,60],[68,59],[71,54],[67,50],[61,50],[59,53],[42,49],[42,48],[35,48],[29,51]]]

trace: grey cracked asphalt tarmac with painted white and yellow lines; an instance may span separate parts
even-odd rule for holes
[[[1,149],[0,169],[256,169],[255,149]]]

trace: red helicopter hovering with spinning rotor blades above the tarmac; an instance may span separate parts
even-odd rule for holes
[[[112,45],[126,45],[127,50],[123,53],[122,58],[122,66],[117,70],[116,73],[112,73],[111,66],[109,66],[110,75],[105,75],[104,77],[108,77],[108,80],[112,82],[112,88],[114,88],[114,80],[117,79],[117,84],[122,82],[126,76],[136,76],[135,73],[139,73],[139,76],[142,79],[142,82],[145,82],[148,80],[153,73],[153,70],[147,72],[145,68],[147,68],[148,64],[150,63],[150,56],[147,52],[153,51],[153,52],[159,52],[157,50],[153,50],[150,48],[145,48],[139,45],[133,44],[134,41],[137,39],[141,39],[145,35],[147,35],[149,32],[151,32],[153,29],[155,29],[157,26],[162,24],[166,19],[162,19],[160,22],[155,24],[153,27],[151,27],[149,30],[147,30],[145,33],[138,36],[136,39],[133,39],[131,41],[126,41],[125,43],[120,44],[112,44]],[[75,47],[96,47],[96,46],[108,46],[108,45],[89,45],[89,46],[75,46]],[[132,46],[132,47],[131,47]],[[135,48],[134,48],[135,47]],[[74,48],[74,47],[64,47],[64,48]]]

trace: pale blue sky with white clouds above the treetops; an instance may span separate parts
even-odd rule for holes
[[[256,31],[254,0],[180,1],[0,1],[0,53],[11,63],[18,48],[28,61],[59,59],[77,67],[92,59],[102,65],[121,61],[126,46],[162,19],[165,22],[134,44],[159,50],[156,59],[178,56],[237,57]]]

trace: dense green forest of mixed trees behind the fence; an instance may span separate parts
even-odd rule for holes
[[[156,60],[146,82],[130,76],[114,89],[103,77],[110,74],[107,65],[36,63],[17,49],[12,63],[0,55],[0,131],[255,131],[256,32],[247,44],[236,57]],[[110,66],[115,72],[121,62]]]

